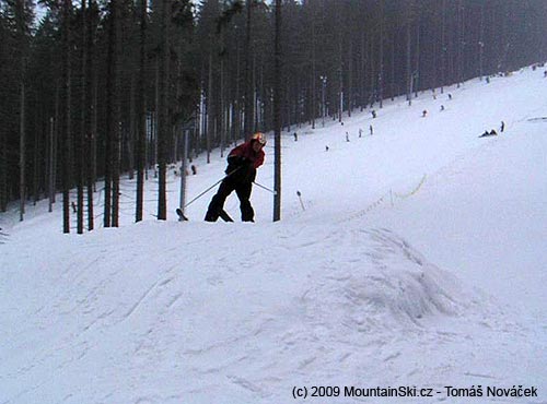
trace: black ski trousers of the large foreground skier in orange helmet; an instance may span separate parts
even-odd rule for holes
[[[220,212],[224,209],[224,202],[226,198],[235,191],[237,198],[240,199],[241,218],[243,222],[253,222],[255,217],[255,211],[251,206],[249,198],[251,191],[253,189],[253,182],[249,181],[237,181],[235,178],[225,178],[219,187],[217,194],[212,197],[209,203],[209,209],[206,214],[206,222],[217,222]]]

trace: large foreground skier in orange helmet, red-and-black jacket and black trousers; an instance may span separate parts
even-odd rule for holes
[[[255,212],[249,198],[256,169],[264,163],[263,147],[266,144],[264,133],[257,132],[249,141],[240,144],[228,155],[226,177],[220,183],[217,194],[212,197],[206,214],[206,222],[217,222],[224,207],[224,202],[233,191],[240,199],[243,222],[254,222]]]

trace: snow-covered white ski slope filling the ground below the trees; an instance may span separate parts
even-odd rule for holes
[[[174,169],[166,222],[152,175],[139,224],[124,180],[116,229],[62,235],[60,195],[23,223],[13,205],[0,403],[547,403],[544,70],[283,132],[278,223],[257,187],[254,224],[235,194],[235,223],[202,222],[212,191],[177,222]],[[272,145],[257,176],[269,188]],[[225,158],[194,164],[188,199]],[[432,396],[366,396],[389,389]]]

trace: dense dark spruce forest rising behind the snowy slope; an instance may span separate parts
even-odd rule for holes
[[[0,0],[0,212],[116,227],[128,175],[164,219],[183,156],[546,58],[542,0]]]

